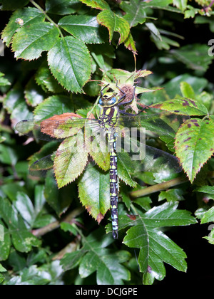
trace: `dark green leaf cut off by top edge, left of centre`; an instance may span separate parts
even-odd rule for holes
[[[75,14],[80,6],[78,0],[46,0],[46,11],[49,14]]]

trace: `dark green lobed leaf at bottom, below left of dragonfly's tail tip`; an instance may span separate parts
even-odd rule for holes
[[[123,280],[131,278],[128,269],[121,265],[121,262],[127,261],[129,254],[123,254],[121,251],[121,258],[117,258],[115,253],[106,248],[111,242],[111,236],[103,236],[100,231],[96,231],[94,234],[84,237],[83,248],[66,254],[61,260],[61,264],[66,270],[79,264],[81,278],[86,278],[96,271],[98,285],[123,285]]]

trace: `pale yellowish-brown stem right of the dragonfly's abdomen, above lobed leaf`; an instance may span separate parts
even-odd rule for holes
[[[151,193],[155,193],[155,192],[158,192],[158,191],[161,191],[161,190],[165,190],[165,189],[168,189],[170,187],[177,186],[179,184],[183,184],[185,182],[188,182],[187,178],[177,177],[176,179],[170,179],[170,181],[168,181],[168,182],[163,182],[163,183],[160,183],[160,184],[156,184],[156,185],[147,187],[145,189],[130,192],[130,196],[133,199],[136,199],[138,197],[146,196],[146,195],[151,194]]]

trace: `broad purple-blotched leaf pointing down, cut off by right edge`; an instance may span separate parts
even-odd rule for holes
[[[180,126],[175,136],[175,152],[190,182],[214,152],[212,120],[191,119]]]

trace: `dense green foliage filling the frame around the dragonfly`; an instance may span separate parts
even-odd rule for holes
[[[0,4],[7,47],[0,57],[0,283],[152,284],[167,279],[165,263],[186,272],[179,226],[194,227],[198,218],[214,244],[213,56],[208,41],[193,38],[199,29],[208,39],[213,32],[210,1]],[[85,149],[64,151],[76,146],[76,128],[59,128],[58,137],[67,138],[58,147],[40,142],[36,131],[26,140],[14,127],[54,115],[97,118],[98,83],[118,92],[116,80],[131,87],[139,80],[134,112],[152,103],[147,115],[175,114],[171,122],[163,113],[142,125],[150,130],[149,145],[174,152],[184,172],[136,174],[136,164],[118,154],[119,239],[113,241],[108,155],[90,152],[96,166],[86,167]],[[56,179],[50,170],[45,178],[29,176],[29,164],[53,152],[46,169],[54,167]]]

